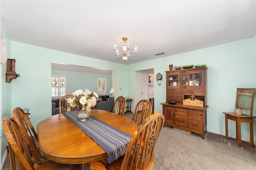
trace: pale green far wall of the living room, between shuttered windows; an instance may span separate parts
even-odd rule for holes
[[[97,79],[105,78],[106,79],[106,95],[109,94],[110,89],[112,88],[112,75],[106,74],[95,74],[95,73],[82,73],[75,71],[62,71],[62,70],[53,70],[52,75],[66,75],[67,76],[67,94],[73,93],[75,90],[82,89],[90,89],[92,92],[97,93]]]

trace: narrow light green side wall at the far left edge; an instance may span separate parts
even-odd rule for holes
[[[11,58],[11,41],[6,31],[6,28],[2,22],[0,21],[0,32],[1,35],[4,36],[6,48],[7,48],[7,57]],[[4,117],[12,116],[12,83],[6,83],[6,63],[0,63],[0,73],[1,73],[1,81],[0,81],[0,120]],[[6,154],[6,144],[7,140],[4,135],[4,131],[2,128],[2,122],[0,124],[1,128],[1,137],[0,137],[0,152],[1,152],[1,163]]]

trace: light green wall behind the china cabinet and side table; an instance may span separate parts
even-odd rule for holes
[[[248,38],[222,45],[216,45],[177,55],[153,59],[142,63],[128,65],[129,95],[135,99],[135,71],[154,68],[154,75],[162,73],[166,76],[169,64],[173,67],[182,65],[206,64],[207,75],[207,130],[225,135],[223,112],[232,112],[235,108],[236,88],[255,88],[255,38]],[[155,79],[156,81],[156,79]],[[166,101],[166,80],[154,86],[154,111],[162,113],[162,105]],[[133,103],[134,104],[134,103]],[[134,108],[134,106],[133,106]],[[256,107],[255,107],[256,108]],[[255,109],[254,109],[254,115]],[[228,124],[229,135],[235,136],[235,122]],[[249,140],[249,124],[242,124],[242,139]],[[254,138],[256,133],[254,131]]]

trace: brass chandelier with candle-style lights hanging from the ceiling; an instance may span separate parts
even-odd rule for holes
[[[127,41],[127,37],[123,37],[122,40],[124,41],[124,45],[123,45],[123,51],[121,51],[120,53],[118,52],[118,49],[116,48],[116,44],[114,45],[114,51],[115,51],[115,54],[118,58],[121,58],[126,61],[128,59],[128,57],[134,57],[137,53],[137,47],[135,47],[135,51],[134,52],[134,55],[131,55],[130,52],[129,52],[129,43],[126,42]]]

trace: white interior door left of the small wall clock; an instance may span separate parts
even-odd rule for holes
[[[136,103],[148,100],[148,73],[136,72]]]

